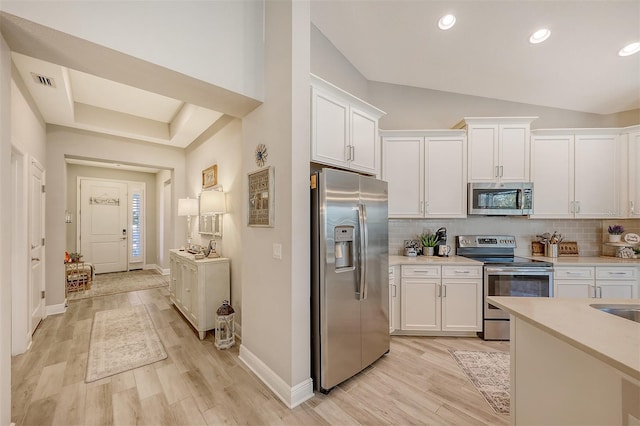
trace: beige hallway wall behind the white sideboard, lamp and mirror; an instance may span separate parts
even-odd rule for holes
[[[218,184],[226,195],[227,213],[222,220],[222,238],[216,238],[217,250],[231,259],[231,306],[236,323],[242,325],[242,262],[244,249],[242,228],[245,225],[242,206],[245,202],[242,182],[242,122],[233,119],[214,134],[203,135],[187,148],[187,195],[196,198],[202,191],[202,170],[217,164]],[[185,218],[177,218],[185,221]],[[208,244],[210,235],[198,233],[198,218],[194,218],[193,243]],[[241,330],[239,334],[241,334]]]

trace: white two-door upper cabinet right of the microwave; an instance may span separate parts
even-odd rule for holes
[[[618,133],[618,129],[534,131],[531,217],[625,217],[626,165]]]

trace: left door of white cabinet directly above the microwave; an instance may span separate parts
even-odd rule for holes
[[[497,124],[469,126],[469,182],[498,180],[499,131]]]

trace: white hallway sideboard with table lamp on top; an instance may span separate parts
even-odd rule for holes
[[[223,300],[231,300],[229,259],[193,259],[193,255],[171,250],[169,297],[196,329],[200,339],[216,326],[216,311]]]

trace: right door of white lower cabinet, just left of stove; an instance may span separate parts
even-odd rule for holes
[[[482,331],[482,281],[442,280],[442,330]]]

